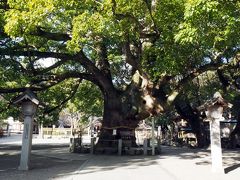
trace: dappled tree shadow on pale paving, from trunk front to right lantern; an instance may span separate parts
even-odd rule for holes
[[[161,160],[167,161],[168,159],[172,159],[175,162],[178,160],[194,160],[194,163],[197,166],[209,167],[211,165],[210,150],[208,149],[189,149],[170,146],[163,147],[162,153],[158,156],[94,155],[91,158],[94,160],[89,159],[86,163],[84,163],[78,172],[74,172],[73,174],[93,174],[95,172],[103,173],[118,168],[131,170],[138,169],[139,167],[148,167],[154,165],[160,167]],[[227,150],[223,152],[223,165],[226,168],[225,173],[229,173],[239,167],[233,165],[239,161],[239,158],[239,149],[235,151]],[[164,167],[161,168],[164,169]],[[210,172],[211,170],[209,169],[209,173]]]

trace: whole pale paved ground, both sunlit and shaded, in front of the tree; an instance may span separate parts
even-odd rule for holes
[[[238,180],[240,177],[239,149],[223,151],[226,173],[214,174],[209,150],[164,146],[159,156],[91,156],[69,153],[68,140],[57,139],[33,139],[32,169],[18,171],[19,142],[6,141],[0,139],[0,179],[4,180]]]

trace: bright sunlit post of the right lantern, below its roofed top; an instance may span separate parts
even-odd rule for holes
[[[210,138],[212,171],[217,173],[224,173],[222,166],[222,148],[219,118],[213,118],[210,120]]]

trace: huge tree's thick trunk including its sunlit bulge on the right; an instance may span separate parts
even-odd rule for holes
[[[153,97],[152,89],[139,88],[136,84],[126,91],[105,91],[103,124],[97,148],[116,147],[117,139],[131,141],[136,146],[135,128],[138,123],[151,115],[163,111],[159,100]],[[129,144],[128,144],[129,145]]]

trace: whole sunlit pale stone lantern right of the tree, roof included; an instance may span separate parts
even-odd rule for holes
[[[217,173],[224,173],[222,166],[220,121],[224,120],[222,116],[223,111],[231,106],[230,103],[223,99],[219,92],[216,92],[211,100],[201,106],[201,108],[205,110],[210,123],[212,171]]]

